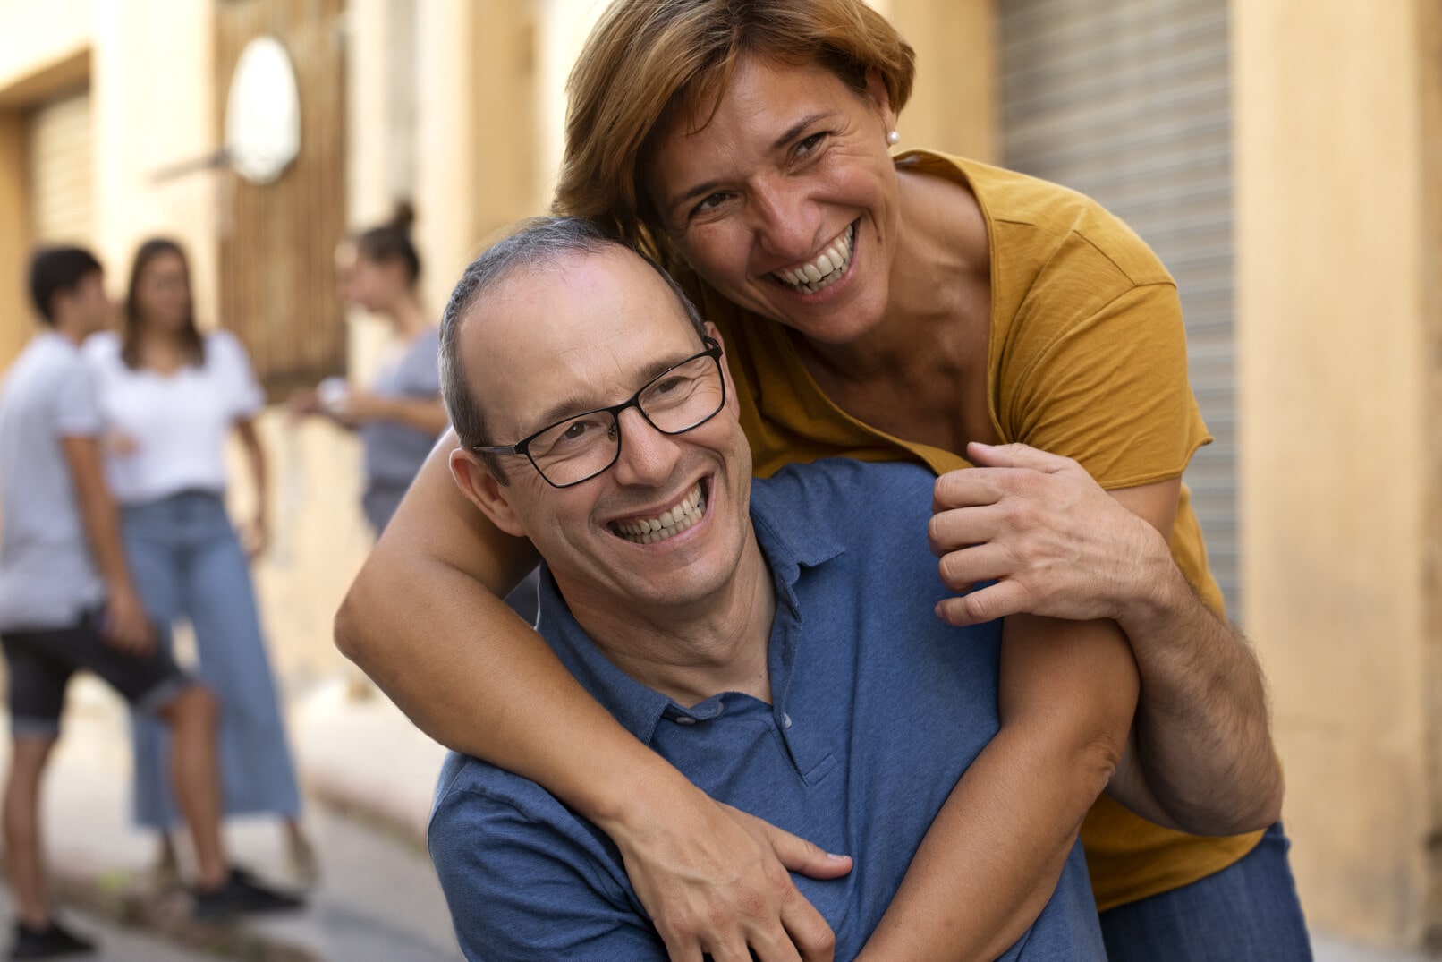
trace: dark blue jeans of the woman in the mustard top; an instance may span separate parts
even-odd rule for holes
[[[1221,871],[1102,913],[1110,962],[1311,962],[1282,824]]]

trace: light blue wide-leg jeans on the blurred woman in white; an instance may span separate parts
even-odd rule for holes
[[[162,627],[187,619],[199,678],[219,700],[216,731],[225,813],[300,813],[300,790],[255,612],[249,564],[225,503],[182,492],[123,511],[125,557],[146,610]],[[169,645],[170,632],[162,632]],[[180,821],[170,792],[169,733],[131,714],[136,822]]]

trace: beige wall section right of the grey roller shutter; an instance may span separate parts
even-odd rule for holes
[[[1309,919],[1403,945],[1436,920],[1422,6],[1231,4],[1249,627]]]

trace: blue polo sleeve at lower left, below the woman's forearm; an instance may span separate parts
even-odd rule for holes
[[[601,842],[473,789],[443,789],[427,832],[467,959],[655,959],[666,950]]]

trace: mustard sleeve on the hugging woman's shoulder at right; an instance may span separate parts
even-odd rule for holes
[[[1211,438],[1177,288],[1097,280],[1053,278],[1022,303],[992,385],[1002,438],[1073,457],[1109,489],[1178,477]]]

